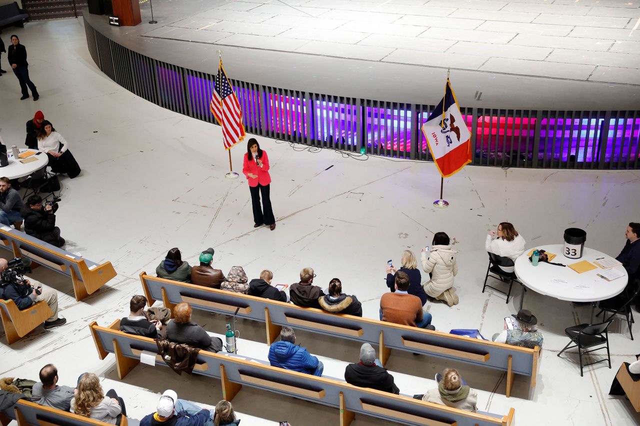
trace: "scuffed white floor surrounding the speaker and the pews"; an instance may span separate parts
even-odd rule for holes
[[[2,34],[5,43],[13,29]],[[0,134],[8,145],[24,144],[24,123],[36,109],[67,138],[83,168],[80,177],[63,179],[58,224],[67,249],[94,261],[111,260],[118,276],[83,303],[72,297],[70,283],[52,272],[34,277],[58,290],[68,324],[42,328],[11,347],[0,343],[0,377],[37,379],[38,370],[54,363],[62,384],[74,384],[81,372],[104,378],[127,401],[129,416],[154,411],[158,394],[175,389],[180,397],[204,406],[220,398],[219,383],[203,377],[177,376],[164,368],[138,367],[118,381],[113,356],[100,361],[87,324],[107,324],[125,315],[129,298],[139,294],[140,271],[153,272],[172,247],[191,264],[204,248],[216,249],[214,264],[227,271],[243,265],[251,278],[268,268],[278,283],[298,280],[312,266],[317,283],[334,276],[348,293],[362,300],[364,315],[376,317],[385,262],[399,262],[403,249],[419,253],[433,233],[445,231],[460,251],[456,288],[460,304],[431,304],[440,330],[477,327],[485,336],[502,329],[502,318],[517,310],[516,297],[481,293],[486,254],[484,235],[500,221],[511,221],[528,246],[561,242],[564,228],[588,233],[588,246],[617,255],[629,221],[638,221],[640,171],[502,170],[468,166],[445,180],[451,207],[431,206],[439,178],[433,164],[369,157],[356,161],[328,150],[258,138],[271,159],[272,201],[278,227],[254,230],[250,194],[243,179],[225,180],[227,153],[220,129],[139,99],[99,72],[86,50],[82,20],[29,24],[15,29],[29,53],[29,71],[40,100],[20,101],[17,79],[0,77]],[[2,67],[7,69],[6,57]],[[244,145],[232,150],[241,168]],[[329,166],[333,166],[326,170]],[[565,327],[589,320],[589,308],[527,294],[525,307],[540,320],[545,348],[538,384],[518,377],[506,398],[504,374],[472,371],[456,364],[479,390],[479,408],[506,414],[515,407],[519,425],[621,425],[640,419],[624,399],[607,395],[622,361],[640,352],[627,327],[612,327],[612,369],[605,363],[586,368],[580,377],[577,356],[557,358],[567,341]],[[640,316],[639,316],[640,317]],[[196,313],[209,331],[223,332],[223,317]],[[260,324],[241,321],[241,354],[266,356]],[[634,326],[640,336],[640,327]],[[358,359],[358,345],[299,333],[299,342],[323,359],[327,375],[340,376]],[[439,359],[394,353],[388,368],[403,393],[422,393],[434,386],[433,374],[447,364]],[[337,410],[278,398],[246,389],[233,401],[244,425],[335,425]],[[358,416],[355,425],[383,424]]]

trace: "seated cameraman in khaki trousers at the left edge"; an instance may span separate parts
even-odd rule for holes
[[[25,310],[32,304],[45,301],[53,311],[51,318],[45,320],[45,329],[58,327],[65,322],[64,318],[58,318],[58,293],[52,288],[33,287],[29,280],[24,279],[24,272],[29,269],[20,258],[8,261],[0,258],[0,297],[12,299],[19,310]],[[29,269],[30,270],[30,269]]]

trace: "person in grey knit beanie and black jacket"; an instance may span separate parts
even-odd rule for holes
[[[394,376],[388,374],[387,368],[379,367],[379,365],[380,361],[376,359],[376,351],[369,343],[364,343],[360,348],[360,362],[347,366],[344,370],[344,379],[353,386],[398,395],[400,390],[394,383]]]

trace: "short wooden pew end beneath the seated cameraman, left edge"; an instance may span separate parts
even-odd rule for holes
[[[12,344],[35,330],[53,311],[45,301],[32,304],[29,308],[19,310],[12,300],[0,300],[0,317],[6,342]]]

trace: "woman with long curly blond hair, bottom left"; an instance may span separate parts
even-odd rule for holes
[[[122,416],[127,415],[124,400],[113,389],[105,394],[100,386],[100,379],[93,373],[80,376],[70,411],[112,425],[120,425]]]

